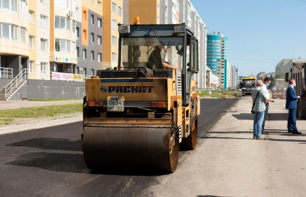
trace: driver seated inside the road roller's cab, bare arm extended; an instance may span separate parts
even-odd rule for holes
[[[169,65],[166,62],[163,61],[161,58],[161,52],[162,46],[156,45],[154,46],[154,50],[151,52],[148,62],[147,62],[147,68],[150,69],[174,69],[176,70],[175,66]]]

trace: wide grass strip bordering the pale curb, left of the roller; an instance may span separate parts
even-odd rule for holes
[[[0,110],[0,119],[36,118],[82,112],[82,103]]]

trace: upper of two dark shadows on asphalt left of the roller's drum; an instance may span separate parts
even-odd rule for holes
[[[81,140],[70,141],[69,139],[59,138],[33,138],[13,144],[6,145],[8,147],[30,147],[51,150],[71,150],[82,151]]]

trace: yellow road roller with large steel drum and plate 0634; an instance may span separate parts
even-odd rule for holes
[[[82,151],[86,165],[177,167],[197,144],[199,42],[185,24],[118,25],[118,66],[86,79]]]

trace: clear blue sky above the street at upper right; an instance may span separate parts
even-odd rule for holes
[[[208,33],[228,36],[239,75],[275,72],[282,59],[306,58],[306,0],[191,0]]]

